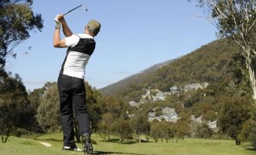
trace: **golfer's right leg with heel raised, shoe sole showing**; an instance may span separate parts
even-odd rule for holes
[[[81,80],[76,79],[76,81],[74,81],[76,88],[73,93],[73,109],[76,119],[79,121],[79,131],[82,135],[84,151],[85,153],[91,154],[93,153],[93,147],[91,144],[89,116],[86,109],[85,83],[83,79]]]

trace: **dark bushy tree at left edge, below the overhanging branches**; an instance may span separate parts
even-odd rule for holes
[[[32,131],[36,127],[36,120],[29,104],[26,88],[21,78],[4,78],[0,84],[0,132],[4,142],[9,134],[15,134],[17,129]]]

